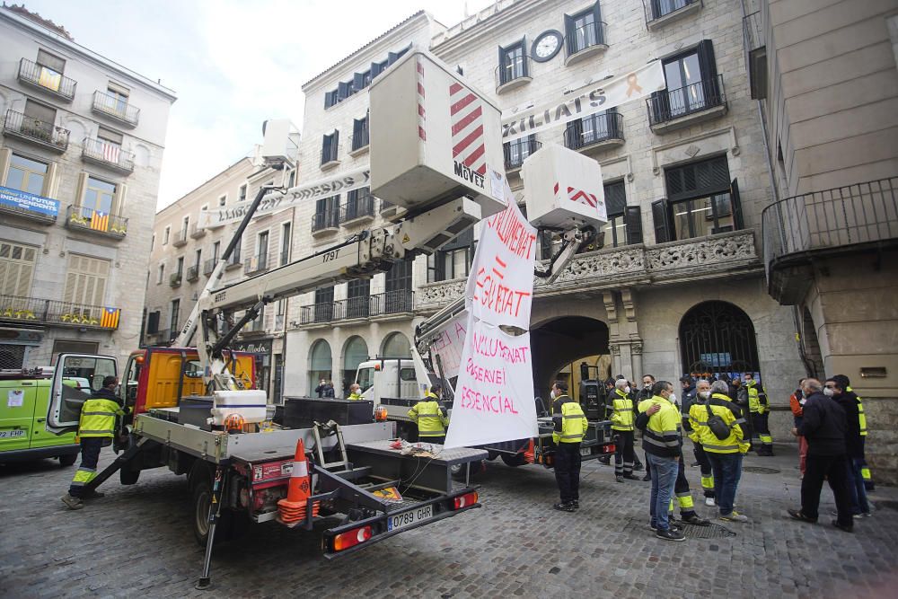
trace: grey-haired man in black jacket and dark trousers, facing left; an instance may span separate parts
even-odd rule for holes
[[[830,483],[836,499],[836,528],[850,533],[854,527],[851,516],[851,497],[848,486],[848,456],[845,449],[845,410],[823,394],[823,385],[817,379],[808,378],[802,383],[807,397],[801,427],[793,428],[793,435],[807,440],[807,464],[805,478],[801,481],[801,509],[790,509],[788,514],[796,520],[814,523],[819,515],[820,490],[823,479]]]

